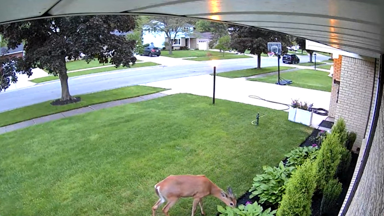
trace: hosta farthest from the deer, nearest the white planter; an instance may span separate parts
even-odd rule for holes
[[[310,160],[314,160],[318,149],[319,147],[317,145],[294,148],[290,153],[285,155],[288,158],[285,165],[298,166],[304,164],[308,158],[310,158]]]

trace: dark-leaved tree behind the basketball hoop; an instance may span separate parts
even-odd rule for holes
[[[281,42],[281,55],[288,52],[290,37],[283,33],[262,30],[254,27],[242,27],[233,25],[229,28],[231,36],[231,48],[240,53],[246,50],[250,54],[257,55],[257,68],[261,67],[262,53],[268,53],[268,42]]]

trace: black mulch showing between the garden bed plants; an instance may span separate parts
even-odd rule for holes
[[[324,131],[321,131],[321,130],[318,130],[318,129],[313,129],[311,135],[309,135],[305,141],[303,141],[299,146],[300,147],[305,147],[305,146],[311,146],[313,145],[314,141],[319,133],[321,132],[324,132]],[[285,158],[283,161],[284,164],[286,164],[287,162],[287,159],[288,158]],[[353,177],[353,173],[354,173],[354,169],[356,167],[356,163],[357,163],[357,160],[358,160],[358,154],[356,153],[352,153],[352,159],[351,159],[351,163],[350,163],[350,166],[348,168],[348,171],[345,175],[345,178],[339,178],[339,182],[342,184],[342,192],[341,192],[341,195],[339,196],[338,198],[338,201],[337,201],[337,204],[334,206],[334,208],[330,211],[331,213],[329,214],[326,214],[326,216],[337,216],[340,209],[341,209],[341,206],[343,204],[343,201],[344,201],[344,198],[348,192],[348,188],[349,188],[349,184],[351,183],[351,179]],[[252,192],[249,192],[248,190],[242,195],[240,196],[238,199],[237,199],[237,205],[246,205],[247,203],[255,203],[255,202],[258,202],[259,201],[259,197],[258,196],[254,196],[253,198],[249,198],[249,196],[252,194]],[[323,195],[322,194],[319,194],[319,193],[315,193],[313,194],[313,197],[312,197],[312,206],[311,206],[311,211],[312,211],[312,216],[320,216],[320,206],[321,206],[321,200],[323,198]],[[260,206],[263,207],[263,209],[268,209],[268,208],[271,208],[271,210],[276,210],[278,209],[278,204],[274,204],[274,205],[271,205],[271,204],[268,204],[267,202],[265,203],[262,203],[260,204]],[[217,213],[216,216],[219,216],[220,213]],[[324,216],[324,215],[323,215]]]

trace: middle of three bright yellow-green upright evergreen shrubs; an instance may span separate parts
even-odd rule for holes
[[[315,169],[316,182],[321,191],[326,184],[336,176],[336,171],[341,161],[341,156],[346,148],[341,145],[339,134],[332,133],[323,141],[317,155]]]

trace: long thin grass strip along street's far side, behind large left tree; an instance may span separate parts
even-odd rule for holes
[[[149,61],[149,62],[142,62],[142,63],[137,63],[135,65],[131,65],[131,68],[140,68],[140,67],[156,66],[156,65],[159,65],[159,64]],[[81,76],[81,75],[87,75],[91,73],[100,73],[100,72],[106,72],[106,71],[122,70],[122,69],[128,69],[128,67],[121,66],[119,68],[116,68],[115,66],[110,66],[105,68],[96,68],[96,69],[90,69],[90,70],[77,71],[77,72],[68,73],[68,77]],[[42,82],[58,80],[58,79],[59,79],[58,76],[49,75],[49,76],[36,78],[30,81],[34,83],[42,83]]]

